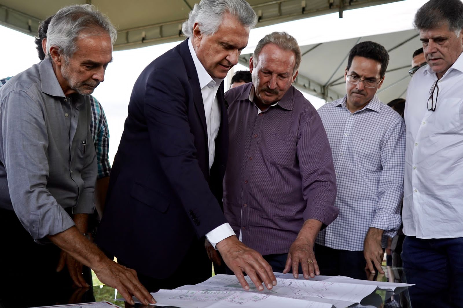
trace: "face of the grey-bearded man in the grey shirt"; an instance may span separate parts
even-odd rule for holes
[[[64,94],[90,95],[105,80],[105,70],[113,59],[113,45],[108,34],[81,34],[77,50],[69,59],[61,55],[61,84]],[[58,79],[59,80],[59,79]]]

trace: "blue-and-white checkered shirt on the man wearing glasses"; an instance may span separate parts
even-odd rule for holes
[[[330,141],[339,215],[316,242],[334,249],[362,251],[369,227],[393,237],[400,226],[405,125],[400,115],[375,95],[350,113],[344,98],[318,112]]]

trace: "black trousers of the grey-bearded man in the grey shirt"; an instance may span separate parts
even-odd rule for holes
[[[66,267],[56,271],[61,249],[34,242],[16,214],[5,209],[0,209],[0,234],[0,307],[67,304],[76,290]],[[92,285],[87,273],[86,281]]]

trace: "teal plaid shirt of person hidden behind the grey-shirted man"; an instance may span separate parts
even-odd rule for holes
[[[8,80],[13,77],[6,77],[0,79],[0,88]],[[92,133],[93,142],[95,145],[96,159],[98,164],[98,176],[100,179],[102,177],[109,176],[111,171],[111,164],[109,163],[109,130],[106,121],[105,112],[100,105],[100,102],[97,101],[92,95],[90,95],[90,104],[92,106],[92,124],[90,125],[90,131]]]

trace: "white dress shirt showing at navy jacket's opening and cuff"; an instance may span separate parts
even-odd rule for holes
[[[198,74],[200,81],[201,94],[204,103],[204,113],[206,115],[206,127],[207,127],[207,141],[209,144],[209,170],[214,163],[215,156],[215,138],[219,133],[220,127],[220,108],[219,101],[217,101],[217,90],[219,89],[220,83],[223,79],[212,78],[207,73],[204,66],[196,56],[191,39],[188,39],[188,47],[190,49],[191,57],[193,58],[194,67]],[[206,238],[214,246],[219,243],[222,239],[226,239],[229,236],[235,235],[230,224],[225,223],[218,226],[212,231],[206,233]]]

